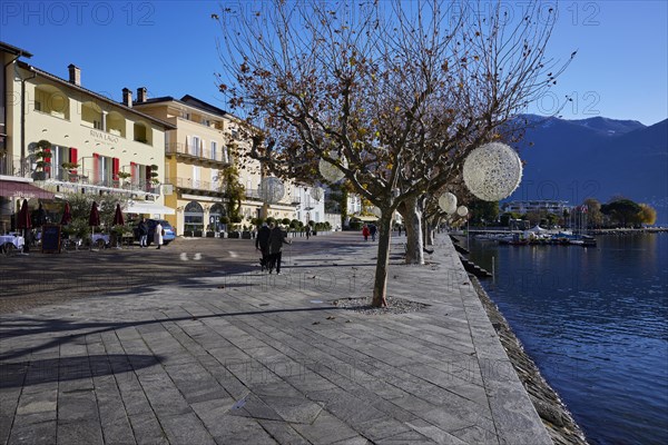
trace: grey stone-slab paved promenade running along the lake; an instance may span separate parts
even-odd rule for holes
[[[418,267],[395,238],[389,295],[429,306],[369,315],[332,304],[371,294],[358,238],[1,315],[0,443],[551,443],[450,240]]]

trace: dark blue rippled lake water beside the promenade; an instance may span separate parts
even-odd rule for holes
[[[483,287],[592,444],[668,444],[668,234],[471,239]]]

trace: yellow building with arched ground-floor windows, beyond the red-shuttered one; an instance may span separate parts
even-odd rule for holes
[[[177,235],[226,229],[222,218],[229,217],[226,178],[230,168],[237,170],[237,181],[245,190],[242,228],[257,217],[294,218],[289,186],[281,202],[263,206],[257,192],[261,164],[245,156],[250,142],[240,137],[238,119],[233,115],[191,96],[149,99],[146,88],[137,90],[134,108],[175,127],[166,137],[165,181],[171,194],[166,195],[165,205],[176,210],[166,219]]]

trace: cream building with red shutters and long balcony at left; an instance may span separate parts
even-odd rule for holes
[[[165,131],[173,126],[134,109],[127,89],[117,102],[84,88],[75,65],[66,80],[19,60],[28,53],[12,48],[0,44],[6,103],[0,175],[32,180],[56,196],[120,194],[128,212],[170,212],[161,184]],[[16,211],[12,207],[2,212]]]

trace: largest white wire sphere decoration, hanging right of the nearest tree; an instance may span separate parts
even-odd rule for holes
[[[522,161],[505,144],[490,142],[466,157],[462,170],[466,188],[479,199],[508,198],[522,180]]]

